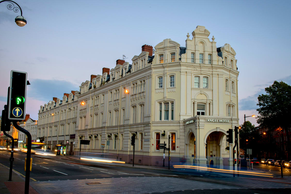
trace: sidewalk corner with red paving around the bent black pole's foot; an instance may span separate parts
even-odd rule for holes
[[[0,164],[0,193],[1,194],[23,194],[25,178],[23,175],[12,171],[11,181],[9,179],[9,168]],[[30,183],[32,180],[30,181]],[[29,186],[30,194],[38,194],[31,186]]]

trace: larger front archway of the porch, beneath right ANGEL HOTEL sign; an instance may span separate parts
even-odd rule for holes
[[[223,156],[229,158],[226,148],[226,134],[222,131],[213,131],[206,138],[205,156],[207,166],[214,168],[223,168]],[[211,162],[211,164],[210,164]]]

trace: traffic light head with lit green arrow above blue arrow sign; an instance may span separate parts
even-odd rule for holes
[[[8,119],[24,120],[27,73],[11,70]]]

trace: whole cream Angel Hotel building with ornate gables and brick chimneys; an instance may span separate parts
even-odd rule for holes
[[[229,44],[217,47],[209,35],[197,26],[185,47],[165,39],[155,50],[143,45],[131,64],[116,60],[114,68],[104,67],[80,91],[40,106],[38,137],[52,149],[74,144],[75,154],[80,139],[90,140],[82,152],[108,152],[132,163],[136,134],[136,164],[161,166],[165,141],[170,165],[185,157],[191,165],[232,166],[226,131],[239,125],[236,53]]]

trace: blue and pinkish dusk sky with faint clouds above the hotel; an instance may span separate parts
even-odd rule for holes
[[[239,124],[257,115],[257,97],[274,80],[291,85],[290,1],[14,1],[27,24],[17,26],[20,11],[0,3],[0,110],[11,70],[28,73],[26,113],[38,120],[40,105],[79,90],[123,54],[132,64],[142,45],[166,38],[184,47],[197,25],[237,53]]]

